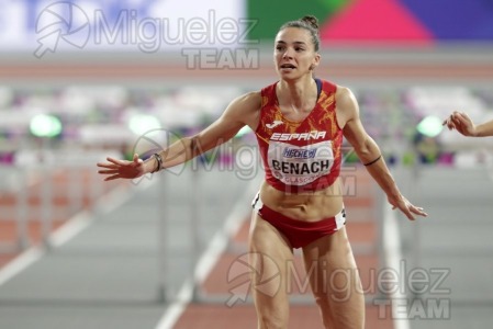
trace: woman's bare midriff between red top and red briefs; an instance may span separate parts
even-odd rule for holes
[[[343,208],[339,180],[330,186],[314,191],[291,194],[279,191],[264,182],[260,198],[269,208],[304,222],[316,222],[338,214]]]

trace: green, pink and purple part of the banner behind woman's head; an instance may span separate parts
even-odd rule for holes
[[[323,45],[493,42],[493,0],[248,0],[247,10],[258,19],[256,39],[272,39],[284,22],[312,14]]]

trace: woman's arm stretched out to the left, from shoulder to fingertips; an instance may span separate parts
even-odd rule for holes
[[[108,162],[99,162],[102,168],[98,171],[107,175],[105,181],[115,179],[135,179],[148,172],[155,172],[163,168],[183,163],[227,140],[233,138],[245,125],[256,126],[258,111],[260,109],[260,94],[250,92],[244,94],[226,107],[224,113],[209,127],[199,134],[183,137],[161,150],[158,155],[163,159],[159,164],[156,157],[143,161],[138,155],[134,155],[132,161],[107,158]]]

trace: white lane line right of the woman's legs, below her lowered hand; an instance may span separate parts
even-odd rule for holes
[[[383,253],[386,264],[393,271],[399,271],[402,257],[402,246],[401,246],[401,234],[399,231],[395,212],[391,209],[389,204],[384,204],[384,213],[383,213]],[[397,275],[399,281],[401,281],[404,273]],[[402,310],[397,310],[397,307],[393,305],[392,302],[402,302],[406,300],[406,295],[401,288],[401,286],[405,284],[405,282],[399,282],[400,288],[393,290],[391,294],[391,310],[393,318],[393,327],[394,329],[410,329],[410,320],[403,315]]]

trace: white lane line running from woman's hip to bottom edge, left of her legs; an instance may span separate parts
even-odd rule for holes
[[[257,180],[253,180],[250,184],[248,184],[244,195],[238,198],[227,216],[223,228],[214,235],[208,249],[199,258],[195,265],[194,282],[188,280],[183,283],[176,302],[166,309],[165,314],[156,325],[156,329],[172,329],[177,324],[188,305],[192,302],[194,285],[200,285],[205,281],[214,265],[217,263],[221,254],[226,250],[228,240],[235,236],[242,227],[242,223],[249,208],[248,197],[255,196],[258,186],[259,182]]]

